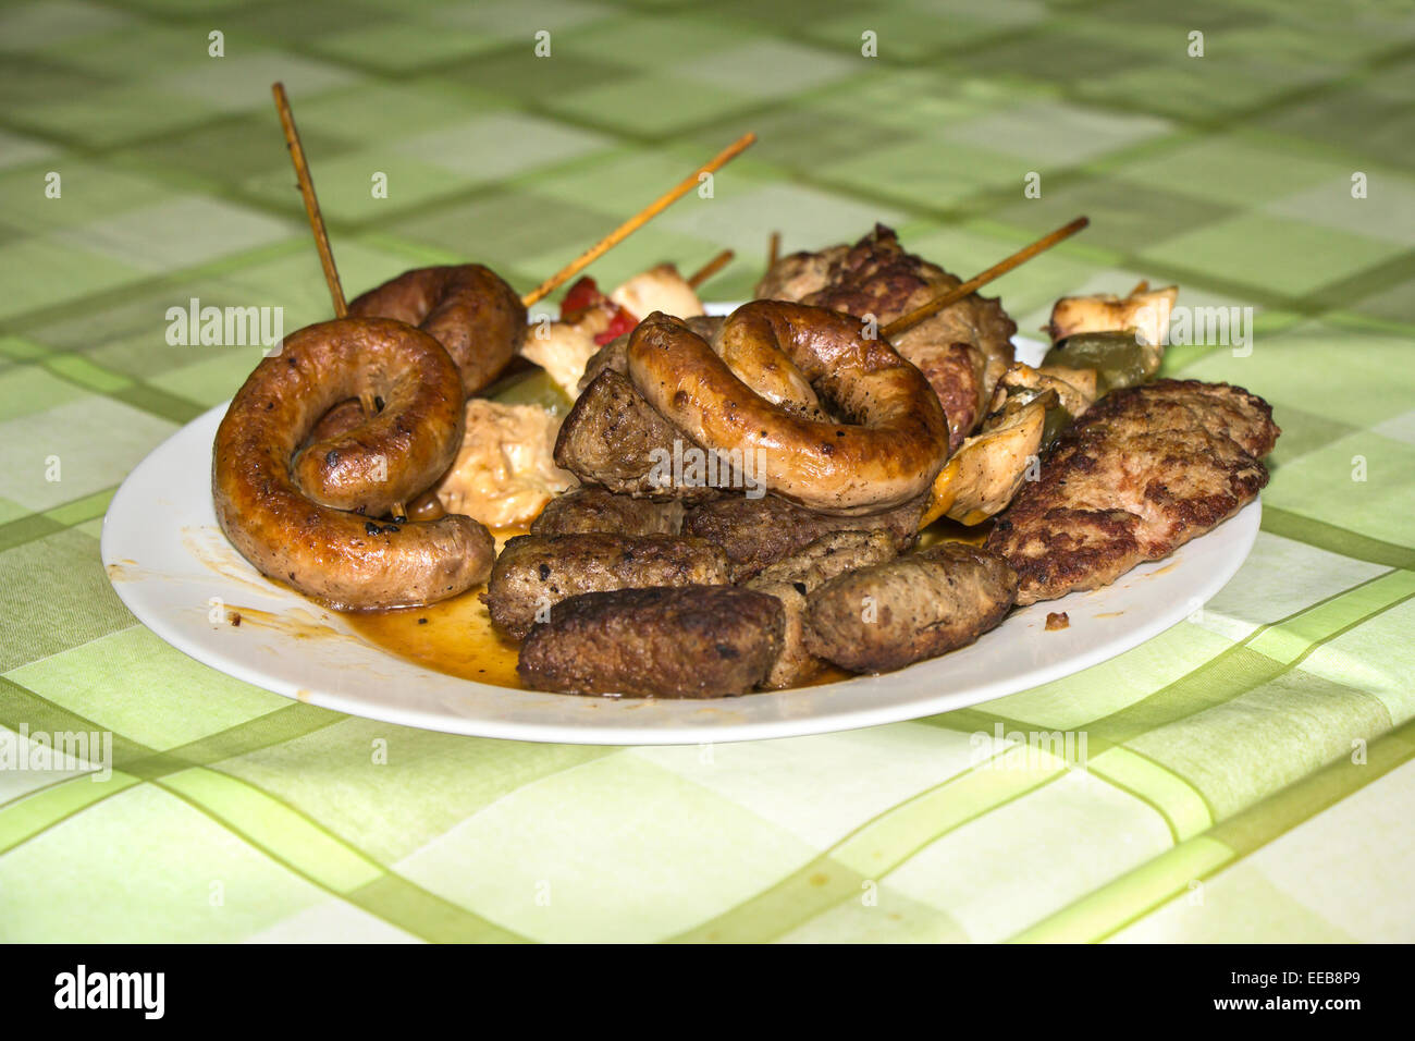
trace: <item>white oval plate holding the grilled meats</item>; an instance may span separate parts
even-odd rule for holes
[[[1041,344],[1017,341],[1037,360]],[[518,741],[685,745],[873,727],[1013,694],[1135,647],[1182,622],[1242,565],[1261,503],[1170,558],[1095,592],[1013,610],[976,643],[887,676],[709,701],[509,690],[432,671],[372,646],[344,619],[267,582],[226,542],[211,503],[219,405],[134,469],[103,518],[103,564],[123,603],[167,643],[290,698],[406,727]],[[232,627],[224,609],[276,615]],[[1049,612],[1070,627],[1046,632]],[[216,620],[212,620],[216,619]],[[311,639],[317,636],[317,639]],[[192,691],[192,697],[202,697]]]

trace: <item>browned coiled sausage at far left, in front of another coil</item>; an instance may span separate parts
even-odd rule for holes
[[[331,405],[361,394],[385,402],[369,426],[386,436],[371,445],[393,491],[426,487],[447,467],[463,429],[447,351],[400,322],[308,326],[256,367],[216,431],[211,484],[222,531],[263,574],[335,608],[430,603],[485,581],[492,538],[471,517],[385,524],[300,487],[296,450]]]

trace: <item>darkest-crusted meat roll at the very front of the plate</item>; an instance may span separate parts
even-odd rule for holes
[[[531,629],[516,671],[569,694],[746,694],[775,661],[782,625],[777,598],[730,585],[583,593]]]

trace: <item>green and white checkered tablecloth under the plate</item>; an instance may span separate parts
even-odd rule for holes
[[[115,769],[0,769],[0,939],[1415,939],[1412,57],[1395,0],[6,4],[0,738],[112,731]],[[1254,307],[1251,354],[1166,360],[1276,406],[1254,552],[1112,661],[791,741],[457,738],[200,666],[98,540],[260,354],[168,346],[168,307],[327,317],[275,79],[352,290],[529,288],[747,129],[593,273],[733,246],[740,299],[768,231],[884,221],[966,275],[1090,214],[996,289],[1023,330],[1139,278]],[[1087,769],[978,763],[999,724],[1085,734]]]

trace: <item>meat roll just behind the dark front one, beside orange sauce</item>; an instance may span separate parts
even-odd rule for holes
[[[727,558],[700,538],[678,535],[519,535],[491,568],[481,599],[491,620],[521,639],[579,593],[654,585],[716,585]]]

